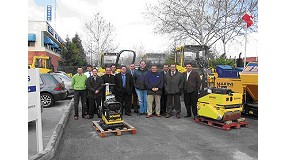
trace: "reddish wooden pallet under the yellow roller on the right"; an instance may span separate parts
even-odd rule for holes
[[[221,128],[223,130],[229,131],[231,128],[239,129],[240,127],[248,127],[248,122],[245,121],[226,121],[226,122],[219,122],[205,117],[196,117],[195,122],[202,123],[208,126]]]

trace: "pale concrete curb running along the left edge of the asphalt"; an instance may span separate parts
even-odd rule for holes
[[[56,149],[58,147],[59,141],[61,139],[63,129],[65,128],[67,120],[70,116],[70,111],[72,109],[73,103],[74,103],[74,98],[70,100],[68,108],[66,109],[61,119],[59,120],[58,124],[56,125],[46,148],[42,152],[30,157],[29,160],[50,160],[53,158]]]

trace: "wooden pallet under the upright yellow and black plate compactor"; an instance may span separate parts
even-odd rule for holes
[[[126,127],[120,129],[120,128],[116,128],[116,129],[107,129],[104,130],[101,126],[99,121],[92,121],[93,122],[93,127],[96,129],[96,131],[100,131],[100,136],[101,138],[104,138],[106,136],[106,133],[116,133],[117,136],[121,136],[122,132],[129,132],[131,134],[136,134],[137,130],[135,127],[131,126],[130,124],[128,124],[127,122],[124,122],[124,125]]]

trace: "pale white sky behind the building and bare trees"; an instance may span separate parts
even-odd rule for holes
[[[143,47],[146,52],[163,52],[170,48],[167,36],[155,34],[154,25],[143,15],[146,3],[154,4],[156,0],[29,0],[29,20],[45,20],[46,5],[55,6],[55,2],[56,21],[53,17],[50,23],[63,39],[66,35],[73,37],[75,33],[84,35],[84,23],[100,12],[116,28],[118,50]],[[244,38],[239,41],[227,46],[228,56],[244,53]],[[247,56],[257,56],[257,34],[248,35],[248,42]],[[217,43],[216,48],[222,52],[221,46]]]

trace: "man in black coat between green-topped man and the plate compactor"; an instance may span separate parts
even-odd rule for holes
[[[89,119],[93,118],[94,114],[98,115],[98,107],[101,105],[102,90],[104,81],[102,77],[98,76],[97,69],[92,70],[93,76],[87,79],[87,98],[89,103]],[[98,115],[100,117],[101,115]]]

